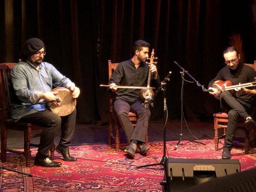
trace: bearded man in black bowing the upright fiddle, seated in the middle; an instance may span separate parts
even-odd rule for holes
[[[114,110],[125,132],[127,142],[130,143],[125,152],[131,157],[134,157],[136,147],[140,149],[142,154],[146,154],[149,149],[149,146],[145,144],[145,135],[150,110],[142,106],[143,101],[139,96],[140,89],[117,88],[116,85],[146,86],[148,70],[152,72],[152,81],[160,83],[156,66],[153,64],[149,66],[145,63],[148,58],[149,46],[149,43],[144,40],[135,41],[133,46],[134,56],[130,60],[119,63],[109,82],[112,85],[110,86],[111,91],[116,93],[113,103]],[[138,116],[135,128],[129,120],[129,111],[135,112]]]

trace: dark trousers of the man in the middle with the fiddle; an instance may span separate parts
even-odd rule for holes
[[[127,142],[131,142],[133,139],[145,142],[145,135],[150,118],[150,110],[149,108],[142,107],[141,103],[141,101],[128,103],[127,101],[121,99],[117,99],[114,102],[114,109],[126,135]],[[129,111],[136,113],[138,116],[135,128],[133,127],[132,122],[129,120]]]

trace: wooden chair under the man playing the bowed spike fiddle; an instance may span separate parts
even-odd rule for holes
[[[112,72],[114,72],[114,70],[116,69],[117,65],[119,63],[111,63],[111,60],[108,60],[109,62],[109,79],[110,76],[112,74]],[[110,112],[109,112],[109,145],[112,146],[112,139],[115,141],[115,148],[117,150],[119,150],[120,148],[120,134],[119,134],[119,129],[121,127],[120,122],[117,118],[117,115],[113,109],[113,105],[112,105],[112,98],[110,98]],[[133,112],[129,112],[129,119],[130,121],[133,123],[133,126],[135,127],[136,125],[136,121],[137,121],[137,116],[135,113]],[[113,132],[113,128],[115,129],[115,132]],[[146,132],[145,135],[145,143],[148,142],[148,135]]]

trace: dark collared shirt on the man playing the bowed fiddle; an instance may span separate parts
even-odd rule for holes
[[[136,69],[135,63],[131,59],[122,61],[112,73],[109,84],[115,83],[123,86],[146,87],[148,68],[149,67],[146,63],[141,63]],[[159,75],[156,80],[153,79],[153,74],[151,75],[152,83],[155,82],[155,84],[160,84]],[[118,88],[115,92],[115,99],[122,99],[127,102],[134,103],[140,100],[140,90],[141,89]]]

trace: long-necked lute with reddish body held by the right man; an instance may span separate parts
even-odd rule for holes
[[[219,99],[219,95],[223,91],[231,91],[232,93],[234,89],[251,87],[251,86],[256,86],[256,81],[251,83],[232,85],[232,82],[229,80],[227,81],[218,80],[212,84],[212,87],[218,91],[218,96],[216,97],[217,99]]]

